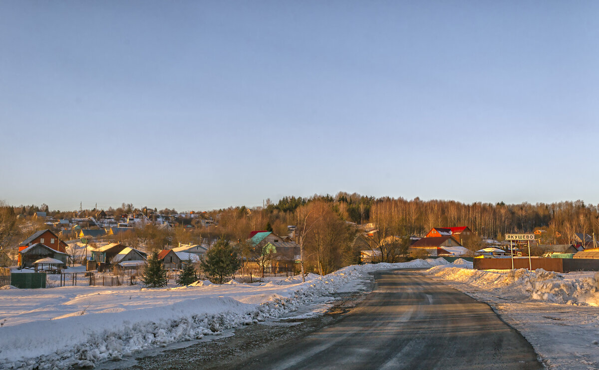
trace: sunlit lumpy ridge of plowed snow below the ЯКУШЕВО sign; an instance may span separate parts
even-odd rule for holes
[[[572,279],[565,274],[545,271],[542,268],[536,271],[528,271],[525,268],[472,270],[450,266],[433,267],[425,271],[425,274],[495,291],[506,297],[520,295],[521,298],[552,303],[599,305],[597,276]]]

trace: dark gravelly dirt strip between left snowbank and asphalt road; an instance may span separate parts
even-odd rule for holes
[[[279,345],[304,337],[317,329],[340,320],[370,293],[338,294],[333,306],[322,316],[290,319],[235,329],[235,335],[201,342],[185,348],[164,351],[156,356],[140,357],[131,370],[154,369],[228,369],[249,356],[268,356]]]

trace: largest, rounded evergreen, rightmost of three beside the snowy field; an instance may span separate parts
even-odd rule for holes
[[[241,261],[237,249],[231,246],[228,240],[220,238],[213,247],[208,249],[205,259],[202,259],[201,267],[208,280],[215,284],[222,284],[226,277],[231,276],[241,267]]]

